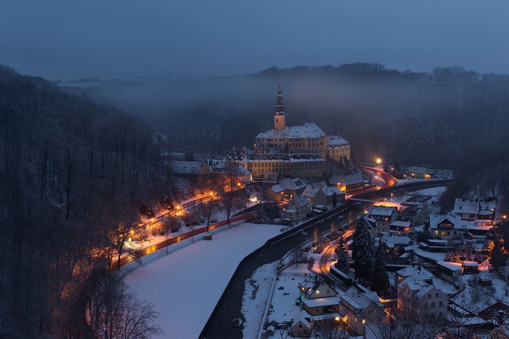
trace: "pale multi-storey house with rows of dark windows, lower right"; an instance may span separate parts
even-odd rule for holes
[[[398,306],[422,318],[447,318],[447,294],[413,276],[398,285]]]

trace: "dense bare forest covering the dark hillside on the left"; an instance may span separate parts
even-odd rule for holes
[[[96,328],[112,325],[106,337],[112,322],[139,321],[134,310],[156,333],[150,305],[107,269],[119,225],[137,225],[139,204],[168,188],[162,136],[2,65],[0,136],[0,337],[90,337],[87,306]]]

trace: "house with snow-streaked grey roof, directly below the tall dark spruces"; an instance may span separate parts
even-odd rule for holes
[[[348,327],[358,335],[364,331],[366,323],[384,323],[387,316],[384,306],[376,292],[361,293],[355,287],[350,287],[340,296],[340,317]]]

